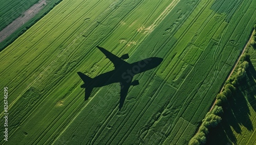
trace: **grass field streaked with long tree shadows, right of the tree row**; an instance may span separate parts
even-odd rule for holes
[[[256,50],[248,47],[246,53],[250,55],[246,76],[239,84],[236,94],[233,94],[228,104],[223,107],[221,124],[209,130],[207,144],[256,143]]]

